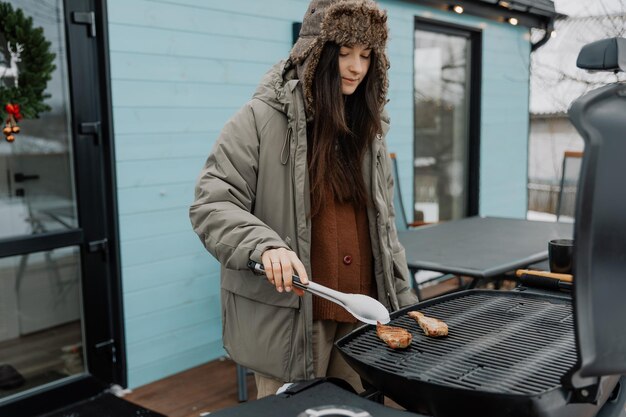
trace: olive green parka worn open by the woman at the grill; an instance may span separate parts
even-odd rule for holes
[[[384,135],[363,160],[379,300],[414,304],[394,223],[393,178]],[[271,248],[295,251],[311,277],[310,190],[302,86],[285,62],[225,125],[202,169],[190,208],[194,231],[221,266],[224,348],[234,361],[281,381],[314,378],[311,296],[279,293],[247,262]]]

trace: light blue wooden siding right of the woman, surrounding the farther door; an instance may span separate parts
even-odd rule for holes
[[[528,29],[467,14],[446,13],[411,1],[380,0],[388,10],[391,131],[389,150],[398,156],[404,207],[413,205],[413,36],[414,18],[482,31],[480,214],[526,216],[528,161]]]

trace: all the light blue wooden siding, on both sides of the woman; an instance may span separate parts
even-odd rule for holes
[[[308,0],[109,0],[129,386],[224,354],[219,265],[192,232],[196,176],[226,120],[287,56]],[[412,202],[413,17],[484,25],[481,213],[526,207],[525,31],[408,1],[389,10],[389,149]],[[426,17],[428,17],[426,16]]]

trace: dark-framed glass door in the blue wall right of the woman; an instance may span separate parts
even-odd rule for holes
[[[415,220],[477,213],[480,48],[480,32],[416,21]]]

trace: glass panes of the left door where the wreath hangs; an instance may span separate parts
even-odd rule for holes
[[[0,143],[0,239],[5,245],[79,230],[63,5],[58,0],[9,4],[15,15],[22,11],[43,29],[56,69],[46,88],[50,110],[20,120],[13,142]],[[0,67],[26,61],[6,32],[0,32]],[[21,46],[27,53],[28,43]],[[15,77],[3,77],[0,86],[8,89],[14,82]],[[81,294],[78,246],[0,258],[0,398],[84,372]]]

